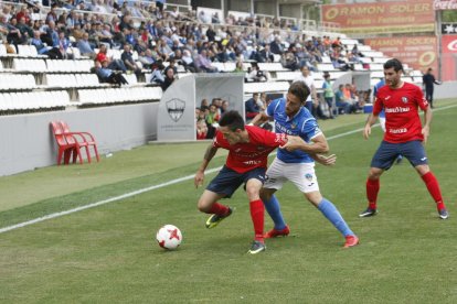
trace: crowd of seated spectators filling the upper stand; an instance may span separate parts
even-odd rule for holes
[[[182,65],[190,73],[217,73],[214,62],[234,62],[237,70],[243,70],[246,61],[279,61],[291,70],[302,66],[318,70],[317,64],[323,56],[329,56],[340,69],[350,68],[350,62],[357,62],[360,56],[354,50],[346,52],[339,39],[307,36],[287,20],[266,22],[256,17],[228,14],[221,24],[216,13],[206,17],[202,11],[196,15],[193,11],[178,12],[176,8],[164,11],[160,3],[162,1],[57,1],[51,3],[46,13],[35,2],[3,3],[0,39],[14,45],[34,45],[39,54],[51,58],[71,57],[68,47],[77,47],[82,55],[99,63],[96,67],[107,61],[110,69],[123,73],[140,75],[145,69],[160,70],[162,77],[153,80],[160,85],[167,78],[164,69],[160,68],[164,62]],[[249,28],[252,25],[256,28]],[[269,29],[276,26],[289,31]],[[124,50],[120,61],[107,56],[105,47]],[[105,56],[100,58],[98,52],[104,52]],[[269,80],[269,75],[253,65],[246,79],[265,82]]]

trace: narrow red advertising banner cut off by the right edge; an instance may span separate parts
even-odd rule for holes
[[[442,36],[442,80],[457,80],[457,36]]]

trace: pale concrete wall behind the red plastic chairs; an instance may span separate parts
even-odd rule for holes
[[[159,102],[0,117],[0,176],[56,164],[50,122],[65,120],[71,130],[88,131],[98,151],[119,151],[157,139]],[[84,155],[84,153],[83,153]]]

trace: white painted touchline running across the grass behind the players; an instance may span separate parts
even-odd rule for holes
[[[446,109],[455,108],[455,107],[457,107],[457,105],[443,107],[443,108],[436,109],[434,111],[446,110]],[[375,126],[379,126],[379,123],[374,124],[373,127],[375,127]],[[363,131],[363,128],[359,128],[359,129],[355,129],[355,130],[352,130],[352,131],[348,131],[348,132],[340,133],[340,134],[337,134],[337,135],[333,135],[333,137],[329,137],[329,138],[327,138],[327,140],[333,140],[333,139],[347,137],[347,135],[350,135],[350,134],[353,134],[353,133],[357,133],[357,132],[361,132],[361,131]],[[272,153],[270,155],[273,155],[273,154],[274,153]],[[222,166],[214,167],[214,169],[205,171],[205,173],[213,173],[213,172],[216,172],[221,169],[222,169]],[[126,193],[126,194],[123,194],[123,195],[119,195],[119,196],[115,196],[115,197],[111,197],[111,198],[99,200],[97,203],[88,204],[88,205],[76,207],[76,208],[73,208],[73,209],[70,209],[70,210],[54,213],[54,214],[50,214],[50,215],[45,215],[45,216],[42,216],[42,217],[34,218],[34,219],[31,219],[31,220],[26,220],[26,221],[23,221],[23,222],[19,222],[19,224],[15,224],[15,225],[7,226],[7,227],[3,227],[3,228],[0,228],[0,234],[11,231],[11,230],[14,230],[14,229],[18,229],[18,228],[22,228],[22,227],[25,227],[25,226],[29,226],[29,225],[33,225],[33,224],[36,224],[36,222],[41,222],[41,221],[44,221],[44,220],[47,220],[47,219],[61,217],[61,216],[64,216],[64,215],[74,214],[74,213],[82,211],[82,210],[85,210],[85,209],[102,206],[102,205],[105,205],[105,204],[108,204],[108,203],[117,202],[117,200],[128,198],[128,197],[131,197],[131,196],[135,196],[135,195],[138,195],[138,194],[142,194],[145,192],[149,192],[149,191],[153,191],[153,189],[157,189],[157,188],[162,188],[162,187],[166,187],[166,186],[170,186],[170,185],[173,185],[173,184],[177,184],[177,183],[181,183],[181,182],[184,182],[184,181],[189,181],[189,180],[192,180],[193,177],[194,177],[194,175],[188,175],[188,176],[184,176],[184,177],[171,180],[171,181],[166,182],[166,183],[161,183],[161,184],[153,185],[153,186],[150,186],[150,187],[146,187],[146,188],[142,188],[142,189],[129,192],[129,193]]]

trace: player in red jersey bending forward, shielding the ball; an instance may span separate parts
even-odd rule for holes
[[[231,197],[244,183],[249,199],[251,218],[254,224],[255,238],[248,253],[255,254],[266,249],[264,243],[264,204],[259,193],[265,181],[267,156],[277,146],[290,149],[301,144],[301,139],[287,134],[276,134],[254,126],[245,126],[237,111],[228,111],[219,121],[219,132],[206,149],[199,170],[195,186],[203,184],[204,171],[217,149],[228,150],[226,163],[217,176],[211,181],[199,199],[198,208],[212,214],[206,220],[206,228],[213,228],[232,214],[232,208],[217,203]]]

